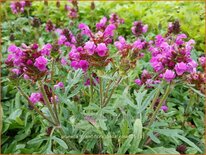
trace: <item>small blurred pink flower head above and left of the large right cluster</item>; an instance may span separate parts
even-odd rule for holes
[[[147,32],[148,25],[143,25],[142,21],[135,21],[131,29],[135,36],[140,36],[141,34]]]

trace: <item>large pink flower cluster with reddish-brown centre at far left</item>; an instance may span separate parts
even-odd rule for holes
[[[36,81],[47,72],[46,56],[50,56],[51,49],[50,44],[44,45],[40,50],[38,50],[37,44],[30,46],[22,44],[21,48],[10,45],[6,64],[17,76],[23,75],[25,79]]]

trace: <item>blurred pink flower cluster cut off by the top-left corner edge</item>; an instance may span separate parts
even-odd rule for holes
[[[10,4],[11,10],[14,14],[23,13],[24,8],[30,6],[31,6],[30,1],[16,1],[16,2],[11,2]]]

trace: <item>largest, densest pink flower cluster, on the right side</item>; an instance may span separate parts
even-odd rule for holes
[[[155,44],[149,48],[152,53],[150,63],[160,78],[170,82],[186,72],[196,71],[197,63],[191,58],[195,42],[194,40],[185,42],[186,38],[185,34],[178,34],[175,38],[156,36]]]

